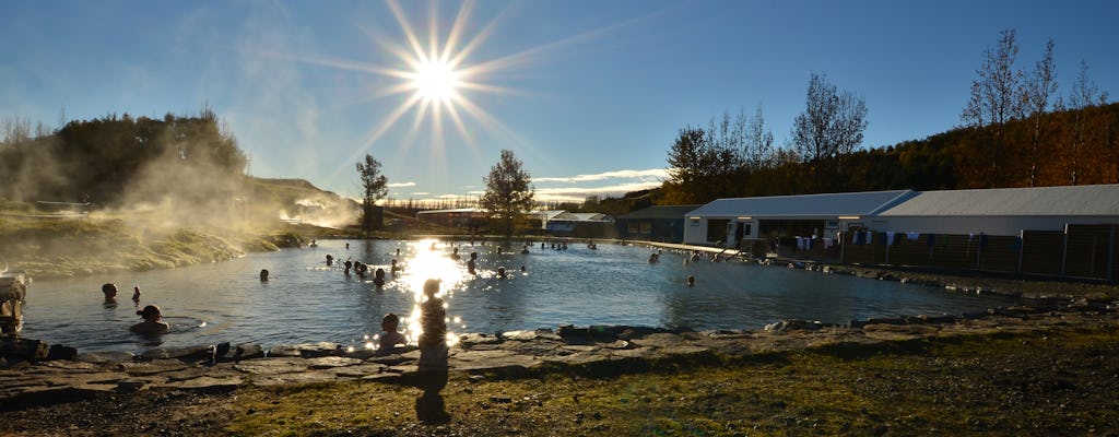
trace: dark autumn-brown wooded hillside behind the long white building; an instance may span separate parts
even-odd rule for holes
[[[698,135],[694,151],[703,159],[679,172],[687,178],[665,181],[658,205],[819,192],[1119,183],[1119,104],[958,127],[816,161],[781,149],[755,167],[722,159],[725,151],[705,139],[709,134]]]

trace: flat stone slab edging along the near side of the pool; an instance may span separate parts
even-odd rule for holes
[[[807,349],[876,349],[925,338],[1028,333],[1054,326],[1119,329],[1115,302],[1069,301],[1044,306],[993,308],[949,316],[872,319],[847,324],[781,321],[756,331],[670,331],[640,326],[562,326],[560,330],[463,334],[448,354],[452,378],[514,379],[552,372],[622,374],[662,365],[764,360]],[[96,393],[149,389],[223,392],[244,384],[276,386],[372,380],[413,383],[421,351],[378,355],[335,343],[156,350],[139,355],[96,353],[73,359],[4,359],[0,409],[15,410]],[[66,396],[59,396],[66,395]]]

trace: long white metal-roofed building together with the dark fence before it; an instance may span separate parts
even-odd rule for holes
[[[1119,278],[1119,184],[720,199],[684,240],[778,256]]]

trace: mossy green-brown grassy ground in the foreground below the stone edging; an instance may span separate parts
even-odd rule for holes
[[[867,353],[689,363],[632,374],[555,372],[440,392],[446,424],[417,416],[421,391],[382,382],[250,388],[234,435],[1051,435],[1119,426],[1113,326],[904,342]],[[667,369],[667,370],[666,370]],[[1063,407],[1062,407],[1063,406]],[[442,427],[442,428],[439,428]]]

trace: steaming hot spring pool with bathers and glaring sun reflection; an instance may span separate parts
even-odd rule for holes
[[[347,244],[349,248],[347,249]],[[684,263],[666,250],[568,243],[567,250],[524,243],[445,240],[319,240],[317,247],[251,254],[242,258],[139,273],[36,281],[29,288],[22,336],[79,352],[254,343],[265,348],[329,341],[365,349],[394,312],[405,334],[419,336],[420,285],[442,279],[451,333],[555,329],[560,325],[633,325],[683,330],[756,330],[781,320],[847,323],[871,317],[962,314],[1007,306],[1016,298],[947,292],[897,282],[826,275],[741,262]],[[500,253],[498,248],[500,247]],[[458,249],[459,260],[452,258]],[[399,255],[397,255],[399,250]],[[478,275],[466,259],[479,254]],[[326,256],[335,258],[327,266]],[[384,287],[345,275],[346,259],[389,270]],[[508,277],[497,277],[505,267]],[[524,267],[524,270],[521,270]],[[261,269],[271,272],[261,282]],[[696,277],[695,286],[686,278]],[[104,304],[104,283],[121,289]],[[139,305],[131,289],[142,291]],[[139,307],[159,305],[172,331],[143,338],[128,331]],[[450,335],[450,338],[455,338]]]

